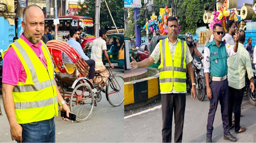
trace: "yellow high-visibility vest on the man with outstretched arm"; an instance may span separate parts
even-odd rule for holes
[[[178,39],[172,60],[172,54],[166,39],[160,40],[161,64],[159,81],[163,93],[171,92],[172,87],[178,92],[186,91],[186,42]]]

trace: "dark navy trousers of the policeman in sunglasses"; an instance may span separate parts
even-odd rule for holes
[[[210,88],[212,90],[212,99],[210,100],[210,109],[207,121],[207,137],[212,137],[213,121],[215,112],[218,107],[218,102],[221,104],[221,118],[224,129],[224,134],[230,134],[228,121],[228,81],[211,81]]]

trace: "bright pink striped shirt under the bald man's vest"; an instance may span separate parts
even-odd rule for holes
[[[35,52],[36,56],[40,56],[40,54],[44,55],[43,50],[41,48],[42,42],[39,42],[38,47],[36,47],[34,44],[29,42],[28,39],[26,39],[23,34],[20,35],[20,38],[23,39],[29,47]],[[45,57],[42,56],[42,58],[39,58],[44,67],[47,69],[46,64],[44,61],[46,61]],[[17,85],[18,82],[26,82],[26,72],[25,69],[20,62],[19,57],[17,56],[17,53],[15,50],[10,47],[9,50],[6,51],[4,58],[3,58],[3,83],[5,84],[11,84],[11,85]]]

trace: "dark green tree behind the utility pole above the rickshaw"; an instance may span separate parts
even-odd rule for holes
[[[100,27],[113,29],[114,24],[111,20],[111,16],[108,12],[108,8],[111,11],[113,20],[116,23],[117,28],[124,28],[124,0],[106,0],[108,3],[108,8],[104,2],[104,0],[100,0]],[[95,20],[95,0],[84,0],[83,3],[78,1],[80,9],[78,9],[79,16],[87,16],[92,17]],[[84,7],[84,5],[87,6]]]

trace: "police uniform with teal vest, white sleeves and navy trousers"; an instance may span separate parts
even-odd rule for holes
[[[221,104],[224,134],[230,134],[228,121],[227,58],[236,54],[233,48],[234,45],[225,44],[223,41],[218,47],[214,40],[204,48],[204,73],[209,73],[210,75],[209,84],[212,90],[212,99],[209,99],[210,109],[207,123],[207,137],[212,137],[212,125],[218,101]]]

